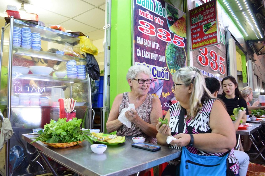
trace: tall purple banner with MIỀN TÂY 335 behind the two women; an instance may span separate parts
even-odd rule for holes
[[[187,64],[186,14],[162,0],[133,0],[133,60],[150,68],[149,93],[163,115],[174,101],[172,75]]]

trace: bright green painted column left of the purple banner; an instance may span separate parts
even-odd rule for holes
[[[130,91],[126,80],[132,65],[131,1],[111,1],[110,108],[119,93]]]

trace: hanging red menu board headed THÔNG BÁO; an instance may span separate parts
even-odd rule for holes
[[[219,44],[216,0],[191,9],[190,25],[191,50]]]

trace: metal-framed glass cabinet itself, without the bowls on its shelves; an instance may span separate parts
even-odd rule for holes
[[[31,32],[38,32],[41,35],[42,50],[26,49],[13,46],[14,26],[29,27]],[[44,26],[38,26],[29,21],[10,18],[10,22],[2,27],[1,39],[1,87],[0,87],[0,108],[7,117],[14,130],[14,135],[5,145],[5,152],[0,153],[1,175],[38,175],[47,173],[48,170],[43,160],[39,157],[31,145],[21,140],[21,134],[32,133],[33,128],[43,128],[50,119],[59,118],[59,102],[52,101],[52,88],[62,88],[65,98],[74,98],[79,103],[75,106],[76,117],[83,119],[82,127],[91,128],[92,105],[90,78],[84,80],[71,78],[58,78],[55,75],[22,74],[14,71],[13,66],[29,67],[43,64],[43,61],[59,61],[59,70],[66,70],[66,63],[75,59],[77,64],[86,62],[86,59],[69,55],[58,55],[47,52],[50,48],[64,50],[77,47],[79,36],[63,31],[53,30]],[[70,47],[69,47],[70,46]],[[65,53],[66,54],[66,53]],[[31,81],[36,83],[31,85]],[[21,105],[21,95],[37,95],[37,97],[48,98],[48,104],[38,106]],[[20,97],[20,98],[19,98]],[[13,103],[20,99],[19,104]],[[22,103],[23,104],[23,103]],[[55,167],[59,168],[57,163]]]

